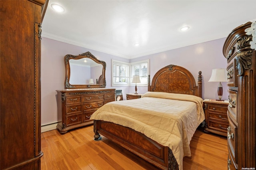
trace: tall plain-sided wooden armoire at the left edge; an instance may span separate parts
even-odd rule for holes
[[[39,170],[46,0],[0,0],[0,169]]]

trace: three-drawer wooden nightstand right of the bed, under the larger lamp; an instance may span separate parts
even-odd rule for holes
[[[216,101],[214,99],[205,99],[203,101],[205,115],[204,132],[227,136],[228,104],[228,101]]]

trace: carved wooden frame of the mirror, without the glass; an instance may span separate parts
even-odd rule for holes
[[[70,59],[82,59],[82,58],[89,58],[95,61],[96,63],[102,64],[102,75],[100,76],[100,81],[97,81],[96,84],[85,84],[85,85],[76,85],[76,84],[70,84]],[[92,53],[89,51],[86,53],[82,53],[80,55],[71,55],[67,54],[64,57],[65,67],[66,67],[66,76],[65,76],[65,89],[84,89],[84,88],[102,88],[106,87],[106,78],[105,78],[105,72],[106,72],[106,62],[98,60]],[[100,84],[98,84],[100,82]]]

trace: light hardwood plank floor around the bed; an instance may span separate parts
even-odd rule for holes
[[[103,136],[94,141],[93,126],[57,130],[41,134],[41,170],[156,170],[155,166]],[[226,170],[227,139],[196,130],[191,142],[191,157],[184,157],[184,170]]]

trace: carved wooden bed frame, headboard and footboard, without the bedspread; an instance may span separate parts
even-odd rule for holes
[[[202,75],[198,73],[198,85],[193,75],[185,68],[168,65],[160,69],[153,77],[148,91],[195,95],[202,97]],[[101,140],[100,134],[144,160],[163,170],[178,170],[178,164],[172,150],[148,138],[129,127],[111,122],[94,120],[94,140]]]

